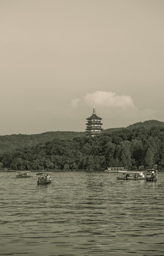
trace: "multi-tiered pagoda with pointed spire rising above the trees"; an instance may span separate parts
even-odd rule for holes
[[[91,117],[87,118],[88,122],[86,124],[86,135],[87,136],[91,136],[94,137],[95,135],[99,135],[102,131],[102,123],[101,117],[98,117],[95,114],[95,107],[93,107],[93,114],[91,115]]]

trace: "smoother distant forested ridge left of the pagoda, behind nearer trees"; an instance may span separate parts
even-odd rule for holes
[[[0,154],[11,152],[25,146],[52,142],[53,139],[74,139],[83,136],[84,132],[44,132],[42,134],[11,134],[0,136]]]

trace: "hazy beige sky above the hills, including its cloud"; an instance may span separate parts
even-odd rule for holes
[[[0,135],[164,122],[163,0],[0,0]]]

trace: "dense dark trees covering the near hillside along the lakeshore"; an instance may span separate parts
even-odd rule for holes
[[[4,153],[0,161],[13,170],[101,170],[107,166],[164,169],[164,127],[123,128],[99,137],[54,139]]]

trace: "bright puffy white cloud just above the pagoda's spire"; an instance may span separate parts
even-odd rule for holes
[[[101,107],[134,107],[132,98],[128,95],[116,95],[115,92],[103,92],[96,91],[93,93],[87,93],[85,98],[87,105],[93,105]]]

